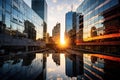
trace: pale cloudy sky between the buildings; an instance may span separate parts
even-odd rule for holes
[[[24,0],[31,7],[31,0]],[[65,14],[75,11],[83,0],[46,0],[48,4],[47,32],[52,35],[52,29],[57,22],[61,23],[61,38],[65,31]],[[73,5],[73,9],[71,6]]]

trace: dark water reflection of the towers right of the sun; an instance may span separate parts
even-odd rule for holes
[[[66,55],[66,75],[80,78],[83,75],[83,55]]]

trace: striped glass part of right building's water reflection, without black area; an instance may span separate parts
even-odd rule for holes
[[[104,60],[94,56],[84,57],[84,79],[103,80]]]

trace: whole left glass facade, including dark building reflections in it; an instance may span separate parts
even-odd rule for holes
[[[0,0],[0,33],[43,38],[43,20],[23,0]]]

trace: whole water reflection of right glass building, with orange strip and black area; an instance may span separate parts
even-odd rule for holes
[[[120,79],[120,58],[106,55],[84,55],[85,80],[113,80]]]

